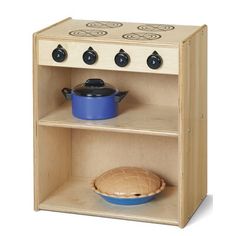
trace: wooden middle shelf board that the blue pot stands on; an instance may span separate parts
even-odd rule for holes
[[[178,111],[174,107],[120,104],[117,117],[88,121],[74,118],[71,114],[71,104],[66,102],[40,119],[39,125],[177,137]]]

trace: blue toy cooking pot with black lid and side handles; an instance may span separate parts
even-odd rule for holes
[[[73,116],[83,120],[103,120],[118,115],[118,103],[126,96],[101,79],[89,79],[73,89],[63,88],[62,93],[72,101]]]

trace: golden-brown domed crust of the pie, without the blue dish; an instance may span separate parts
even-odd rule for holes
[[[137,167],[118,167],[106,171],[94,181],[99,193],[116,197],[141,197],[153,195],[165,187],[155,173]]]

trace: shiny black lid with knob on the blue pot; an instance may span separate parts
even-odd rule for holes
[[[117,90],[101,79],[88,79],[85,83],[73,88],[76,95],[84,97],[104,97],[114,94]]]

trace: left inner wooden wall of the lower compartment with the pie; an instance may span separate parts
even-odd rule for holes
[[[38,201],[71,176],[71,130],[38,127]]]

